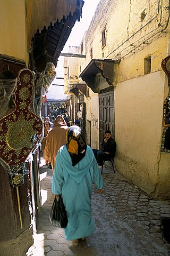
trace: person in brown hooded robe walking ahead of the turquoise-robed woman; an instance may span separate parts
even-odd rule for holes
[[[66,125],[64,118],[58,115],[54,121],[53,129],[48,132],[46,137],[46,147],[44,150],[44,158],[50,162],[54,172],[55,158],[61,146],[67,142],[66,132],[69,127]]]

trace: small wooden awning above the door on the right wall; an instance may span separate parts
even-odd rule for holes
[[[91,59],[79,77],[88,84],[92,91],[99,93],[100,76],[103,76],[109,85],[114,82],[114,64],[117,60]]]

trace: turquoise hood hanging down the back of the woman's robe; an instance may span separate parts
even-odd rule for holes
[[[77,183],[81,183],[82,178],[92,166],[91,163],[94,159],[94,154],[91,148],[87,146],[86,155],[75,166],[72,165],[69,151],[65,145],[60,148],[58,154],[62,155],[63,170],[66,170]]]

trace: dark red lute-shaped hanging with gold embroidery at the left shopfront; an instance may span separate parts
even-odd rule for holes
[[[41,118],[30,110],[33,87],[32,71],[21,69],[15,82],[14,110],[0,119],[0,162],[12,177],[23,168],[43,130]],[[13,177],[16,186],[19,180],[22,181],[21,175]]]

